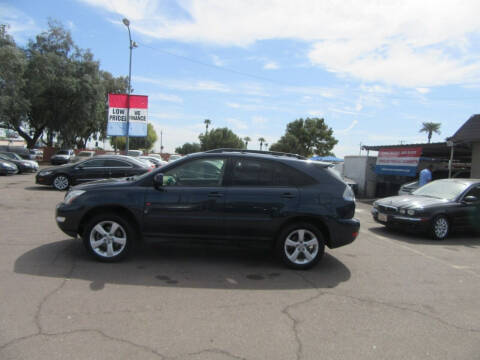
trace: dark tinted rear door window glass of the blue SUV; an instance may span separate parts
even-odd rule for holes
[[[270,162],[257,159],[236,159],[232,172],[232,185],[275,186],[273,172]]]

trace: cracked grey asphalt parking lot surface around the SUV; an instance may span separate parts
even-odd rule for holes
[[[480,238],[387,231],[309,271],[268,252],[148,243],[91,260],[64,193],[0,177],[0,359],[480,359]]]

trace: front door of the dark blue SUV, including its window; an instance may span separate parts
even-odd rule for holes
[[[166,171],[164,186],[151,186],[146,191],[145,235],[224,238],[226,166],[226,157],[206,157]]]

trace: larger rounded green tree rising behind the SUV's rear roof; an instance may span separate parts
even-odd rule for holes
[[[295,153],[303,156],[333,155],[332,149],[338,143],[333,130],[324,119],[297,119],[287,125],[285,135],[270,146],[271,151]]]

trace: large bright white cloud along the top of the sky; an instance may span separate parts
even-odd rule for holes
[[[154,0],[82,1],[128,14],[136,32],[153,38],[222,46],[300,40],[312,44],[313,65],[368,82],[416,88],[480,80],[477,0],[179,2],[188,17],[165,14]]]

